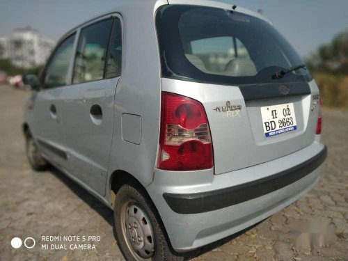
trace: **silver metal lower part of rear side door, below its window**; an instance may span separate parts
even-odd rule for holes
[[[113,136],[113,102],[119,77],[63,88],[66,168],[102,196]],[[90,113],[100,106],[102,118]]]

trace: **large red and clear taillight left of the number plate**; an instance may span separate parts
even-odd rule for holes
[[[212,138],[203,105],[189,97],[162,93],[157,168],[193,171],[212,166]]]

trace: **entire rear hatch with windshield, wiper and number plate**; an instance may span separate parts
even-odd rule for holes
[[[156,17],[161,88],[205,107],[215,174],[310,145],[319,107],[315,82],[280,33],[239,7],[219,7],[168,5]]]

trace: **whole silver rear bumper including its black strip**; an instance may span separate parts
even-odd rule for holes
[[[155,170],[146,189],[175,251],[204,246],[248,228],[303,196],[322,173],[326,147],[302,150],[238,171]]]

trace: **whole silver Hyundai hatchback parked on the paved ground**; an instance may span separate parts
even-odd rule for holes
[[[114,211],[127,260],[180,260],[303,196],[326,157],[319,90],[258,13],[115,1],[58,42],[25,105],[26,152]]]

